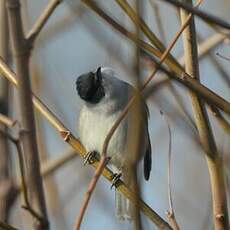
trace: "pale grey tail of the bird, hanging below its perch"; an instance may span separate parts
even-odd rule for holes
[[[119,221],[133,219],[133,204],[119,191],[115,191],[116,216]]]

